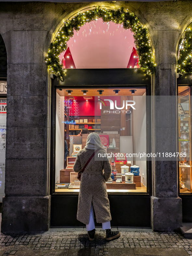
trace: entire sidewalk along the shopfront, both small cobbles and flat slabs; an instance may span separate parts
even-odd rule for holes
[[[192,239],[175,232],[150,229],[114,228],[121,236],[106,241],[96,229],[89,241],[85,228],[51,228],[43,234],[5,236],[0,233],[0,256],[187,256],[192,255]]]

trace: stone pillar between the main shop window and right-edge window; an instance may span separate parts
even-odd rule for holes
[[[176,42],[179,32],[151,32],[155,41],[156,74],[152,85],[152,152],[176,153],[177,81]],[[166,49],[166,50],[165,50]],[[163,161],[164,159],[164,161]],[[173,231],[182,224],[182,200],[178,197],[177,161],[162,157],[152,164],[151,224],[153,230]]]

